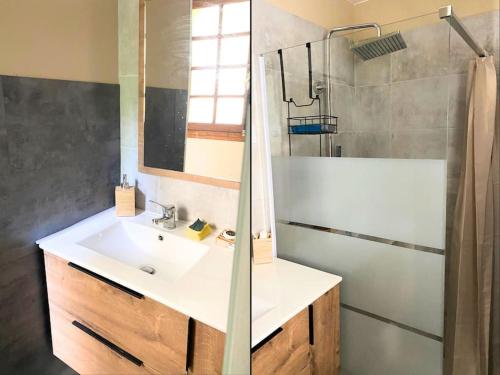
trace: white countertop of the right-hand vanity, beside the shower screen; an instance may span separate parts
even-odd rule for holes
[[[252,303],[259,312],[252,321],[252,347],[341,281],[340,276],[279,258],[253,265]]]

